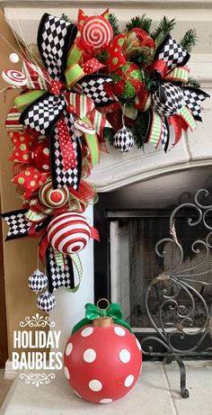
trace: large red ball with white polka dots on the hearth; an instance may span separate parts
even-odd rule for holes
[[[64,365],[77,395],[86,401],[109,403],[127,395],[137,383],[141,347],[128,329],[103,317],[68,339]]]

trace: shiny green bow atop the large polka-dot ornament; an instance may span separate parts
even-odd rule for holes
[[[78,323],[75,324],[74,329],[72,330],[72,334],[75,333],[78,329],[82,329],[82,327],[91,324],[91,321],[94,319],[98,319],[99,317],[111,317],[114,320],[115,324],[119,324],[120,326],[124,326],[126,329],[132,333],[132,329],[128,325],[125,320],[122,320],[122,311],[120,310],[119,304],[116,302],[111,302],[109,307],[106,309],[100,309],[96,305],[88,302],[84,306],[85,308],[85,318],[80,320]]]

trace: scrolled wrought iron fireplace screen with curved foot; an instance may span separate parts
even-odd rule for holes
[[[212,204],[200,203],[200,200],[207,199],[208,195],[206,189],[199,189],[194,196],[193,203],[181,203],[173,210],[169,221],[170,235],[156,243],[155,253],[157,257],[164,258],[165,247],[169,244],[177,252],[177,259],[175,258],[175,264],[169,270],[156,276],[146,290],[146,313],[151,326],[155,329],[155,335],[143,339],[142,351],[145,355],[164,356],[169,361],[176,360],[180,367],[181,396],[183,398],[189,397],[189,391],[186,388],[186,369],[182,356],[197,356],[199,347],[201,348],[198,352],[199,356],[212,355],[212,347],[206,349],[203,347],[204,339],[208,335],[212,337],[212,310],[204,297],[207,286],[212,286],[212,278],[211,282],[203,280],[203,276],[211,273],[211,267],[207,268],[206,265],[212,248],[212,226],[208,221],[209,213],[212,212]],[[190,266],[185,266],[183,263],[184,251],[176,231],[177,215],[181,209],[189,209],[196,213],[195,218],[188,218],[188,226],[195,227],[201,224],[207,231],[206,237],[200,237],[191,243],[190,250],[196,260]],[[151,307],[149,307],[153,290],[157,295],[156,320]],[[186,298],[186,302],[189,303],[188,307],[182,303],[182,298]],[[197,303],[200,304],[201,310],[199,327],[195,325],[194,319]],[[167,311],[170,320],[167,320]],[[190,341],[185,342],[185,339],[188,340],[188,338]],[[155,352],[156,343],[159,343],[165,352]],[[189,346],[185,347],[185,343]]]

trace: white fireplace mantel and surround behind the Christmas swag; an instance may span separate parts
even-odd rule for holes
[[[177,40],[187,29],[196,27],[199,44],[194,48],[189,62],[192,77],[201,82],[202,88],[212,94],[212,1],[187,0],[128,0],[117,1],[0,1],[4,7],[6,21],[27,44],[36,42],[36,31],[40,17],[45,12],[60,16],[67,14],[73,21],[77,10],[82,7],[87,14],[98,14],[108,6],[119,18],[120,28],[131,17],[147,14],[155,24],[165,14],[176,18],[177,27],[173,32]],[[101,163],[93,168],[90,180],[96,185],[98,192],[109,192],[119,187],[138,183],[170,172],[205,167],[212,164],[212,101],[203,103],[202,123],[198,123],[197,131],[184,134],[178,145],[165,155],[163,149],[155,150],[146,145],[144,150],[133,149],[127,155],[109,146],[109,153],[102,153]],[[86,215],[93,221],[93,209],[90,207]],[[61,348],[70,334],[75,321],[84,317],[84,303],[93,302],[93,242],[82,252],[84,266],[83,283],[78,293],[57,291],[57,307],[51,312],[58,329],[62,331]]]

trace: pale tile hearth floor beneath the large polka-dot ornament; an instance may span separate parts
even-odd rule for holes
[[[189,399],[179,393],[175,363],[145,362],[135,389],[108,405],[93,404],[71,391],[62,372],[49,385],[25,384],[19,378],[4,402],[4,415],[211,415],[212,362],[187,362]]]

